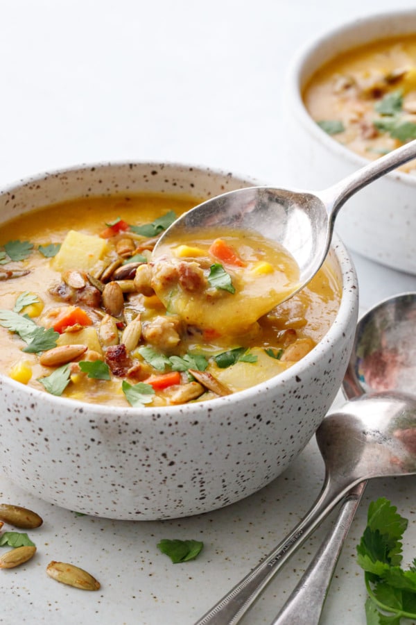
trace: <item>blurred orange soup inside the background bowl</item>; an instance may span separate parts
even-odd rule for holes
[[[324,131],[374,160],[416,138],[416,38],[385,39],[315,72],[304,103]],[[416,173],[416,161],[401,169]]]

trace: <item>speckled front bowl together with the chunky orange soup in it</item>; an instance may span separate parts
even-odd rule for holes
[[[266,239],[212,224],[153,257],[175,217],[248,185],[119,163],[3,190],[0,462],[12,481],[78,512],[163,519],[238,501],[300,453],[352,349],[343,245],[306,289],[255,314],[253,290],[281,289],[292,271]],[[239,313],[218,324],[232,289]]]

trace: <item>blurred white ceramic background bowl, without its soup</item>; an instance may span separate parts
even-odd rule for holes
[[[307,44],[286,80],[288,184],[322,190],[367,162],[315,124],[302,101],[314,72],[331,58],[361,44],[416,33],[416,10],[356,19]],[[392,172],[349,199],[336,230],[354,251],[383,265],[416,274],[416,176]]]

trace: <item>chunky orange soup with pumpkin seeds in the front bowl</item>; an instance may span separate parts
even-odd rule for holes
[[[1,372],[81,401],[166,406],[237,392],[305,356],[340,302],[327,264],[302,292],[236,332],[211,326],[206,313],[199,322],[169,310],[178,288],[182,303],[203,296],[215,310],[248,281],[275,281],[284,270],[281,250],[255,235],[205,233],[178,242],[177,265],[156,275],[157,238],[194,204],[165,194],[96,197],[3,224]]]

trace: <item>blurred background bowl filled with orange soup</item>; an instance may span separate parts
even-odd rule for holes
[[[290,138],[286,146],[289,183],[297,188],[311,190],[329,188],[363,167],[367,158],[376,158],[377,152],[398,147],[401,141],[396,140],[395,136],[403,135],[404,140],[412,138],[416,128],[416,108],[413,113],[410,100],[413,100],[414,95],[416,101],[416,83],[413,85],[410,79],[416,76],[416,63],[409,63],[408,54],[397,49],[401,39],[412,40],[411,46],[416,46],[416,10],[388,12],[356,19],[321,35],[300,51],[288,71],[285,92],[287,131]],[[393,54],[392,47],[396,47]],[[372,60],[368,64],[368,75],[365,75],[367,53]],[[397,69],[394,71],[392,58],[397,60]],[[351,112],[353,124],[355,128],[360,128],[361,133],[358,138],[356,135],[355,145],[354,140],[349,142],[351,137],[348,132],[339,133],[343,115],[341,110],[336,115],[333,106],[328,106],[328,110],[324,106],[315,106],[316,100],[319,101],[320,98],[322,102],[326,98],[329,102],[330,99],[328,90],[322,87],[322,83],[312,94],[315,98],[313,113],[306,106],[306,100],[311,98],[311,87],[316,86],[314,81],[322,81],[324,73],[337,67],[338,61],[341,70],[339,74],[328,74],[331,89],[345,90],[345,93],[349,90],[352,98],[355,97],[358,90],[356,84],[352,83],[356,81],[358,73],[356,83],[360,83],[359,90],[367,90],[368,101],[361,106],[357,100],[355,110]],[[351,73],[348,72],[349,63],[355,63]],[[406,69],[408,74],[403,80],[402,72]],[[377,78],[380,78],[379,83]],[[402,115],[404,111],[399,110],[403,103],[397,103],[401,91],[408,100],[405,104],[408,107],[406,115]],[[390,104],[385,96],[390,97]],[[372,123],[371,114],[369,117],[369,102],[374,108],[376,125]],[[339,106],[342,108],[342,103]],[[381,113],[383,110],[384,113]],[[313,119],[313,115],[318,117]],[[397,130],[401,122],[410,122],[410,134],[401,133],[403,126],[401,131]],[[386,131],[386,128],[389,130]],[[370,137],[367,152],[366,134],[378,135]],[[383,142],[383,135],[388,138],[387,141]],[[354,151],[357,145],[358,152]],[[367,158],[363,156],[366,153]],[[413,236],[416,230],[414,163],[408,166],[407,171],[412,169],[413,173],[399,170],[391,172],[349,199],[336,219],[336,230],[347,247],[363,256],[416,274],[416,242]]]

